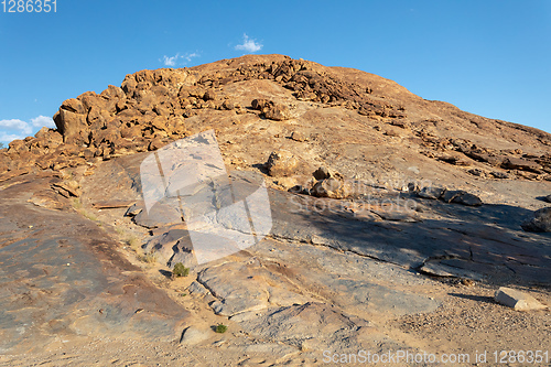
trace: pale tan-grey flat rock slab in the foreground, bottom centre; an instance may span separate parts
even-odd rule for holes
[[[268,239],[242,256],[206,266],[198,273],[197,281],[217,299],[210,303],[216,314],[235,317],[323,301],[367,317],[432,312],[441,305],[429,296],[395,289],[423,284],[419,276],[329,248]]]

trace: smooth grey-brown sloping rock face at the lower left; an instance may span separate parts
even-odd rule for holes
[[[112,238],[55,196],[55,211],[28,202],[60,181],[46,173],[0,191],[0,354],[46,348],[60,336],[172,341],[190,313]]]

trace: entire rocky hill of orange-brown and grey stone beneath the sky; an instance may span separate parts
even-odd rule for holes
[[[54,121],[0,150],[0,361],[86,365],[83,345],[120,365],[270,366],[550,344],[533,338],[549,311],[493,300],[508,285],[551,301],[547,132],[282,55],[141,71]],[[140,165],[208,130],[230,174],[266,181],[272,226],[197,263],[181,216],[148,215]],[[170,277],[176,262],[188,277]]]

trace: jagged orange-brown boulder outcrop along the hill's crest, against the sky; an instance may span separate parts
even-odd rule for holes
[[[270,83],[280,88],[279,96],[288,90],[283,94],[294,101],[269,94],[258,94],[250,99],[233,95],[234,89],[250,83]],[[372,75],[350,74],[285,56],[244,56],[193,68],[127,75],[120,87],[109,86],[99,95],[87,91],[65,100],[54,116],[57,129],[43,129],[35,137],[11,142],[0,154],[0,171],[61,170],[155,150],[196,132],[197,126],[190,123],[191,120],[209,110],[226,111],[234,119],[259,114],[262,118],[285,122],[303,121],[309,115],[304,114],[304,107],[314,105],[355,111],[366,117],[368,126],[376,131],[418,144],[424,149],[425,156],[441,162],[465,166],[479,162],[491,166],[495,172],[479,175],[487,180],[509,176],[550,180],[551,154],[515,148],[519,144],[549,147],[551,138],[542,131],[426,101]],[[465,138],[461,138],[462,133],[446,133],[446,126],[452,125],[461,126]],[[388,133],[389,128],[403,132]],[[510,148],[498,149],[503,144],[489,143],[483,138],[497,131],[500,137],[511,137]],[[294,131],[291,138],[301,142],[304,141],[301,136],[302,132]]]

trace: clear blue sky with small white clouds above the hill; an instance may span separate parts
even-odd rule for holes
[[[68,1],[0,4],[0,142],[140,69],[246,53],[354,67],[551,132],[551,1]]]

